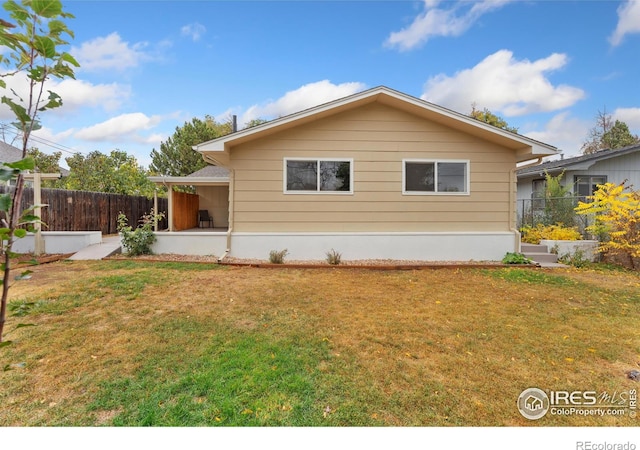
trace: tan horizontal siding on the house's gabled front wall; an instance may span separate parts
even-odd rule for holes
[[[352,158],[353,194],[283,193],[284,158]],[[403,159],[470,161],[469,195],[402,195]],[[512,151],[373,104],[231,150],[236,231],[506,231]]]

